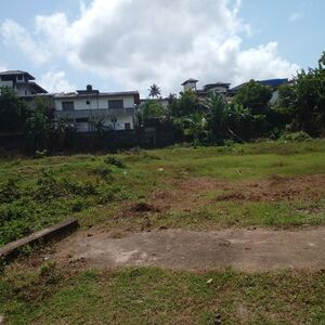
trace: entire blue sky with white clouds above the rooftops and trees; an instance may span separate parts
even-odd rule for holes
[[[290,77],[325,51],[324,0],[0,0],[0,70],[52,92]]]

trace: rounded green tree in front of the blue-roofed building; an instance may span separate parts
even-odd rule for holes
[[[272,98],[272,89],[258,81],[250,80],[244,84],[234,98],[234,103],[250,108],[253,115],[264,114]]]

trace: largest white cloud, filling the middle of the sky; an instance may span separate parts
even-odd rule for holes
[[[38,63],[66,60],[72,67],[114,79],[121,89],[165,92],[195,77],[203,82],[287,77],[298,66],[282,58],[277,43],[242,50],[251,29],[238,16],[240,1],[93,0],[68,22],[64,13],[37,16],[34,34],[8,21],[14,43]],[[22,44],[20,44],[22,42]],[[37,52],[37,54],[35,54]]]

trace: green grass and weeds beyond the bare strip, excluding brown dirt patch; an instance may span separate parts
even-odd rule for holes
[[[94,155],[0,160],[0,246],[72,216],[78,217],[82,226],[104,223],[114,227],[114,213],[126,202],[148,200],[156,190],[172,190],[171,180],[205,177],[240,182],[272,174],[325,173],[324,140],[225,147],[176,146],[117,157],[125,168],[105,164],[105,156]],[[300,205],[323,207],[322,198],[289,204],[226,202],[205,209],[198,207],[187,216],[172,210],[152,219],[156,225],[193,229],[324,222],[324,209],[304,213],[297,211]],[[138,223],[141,220],[134,218],[134,224]]]

